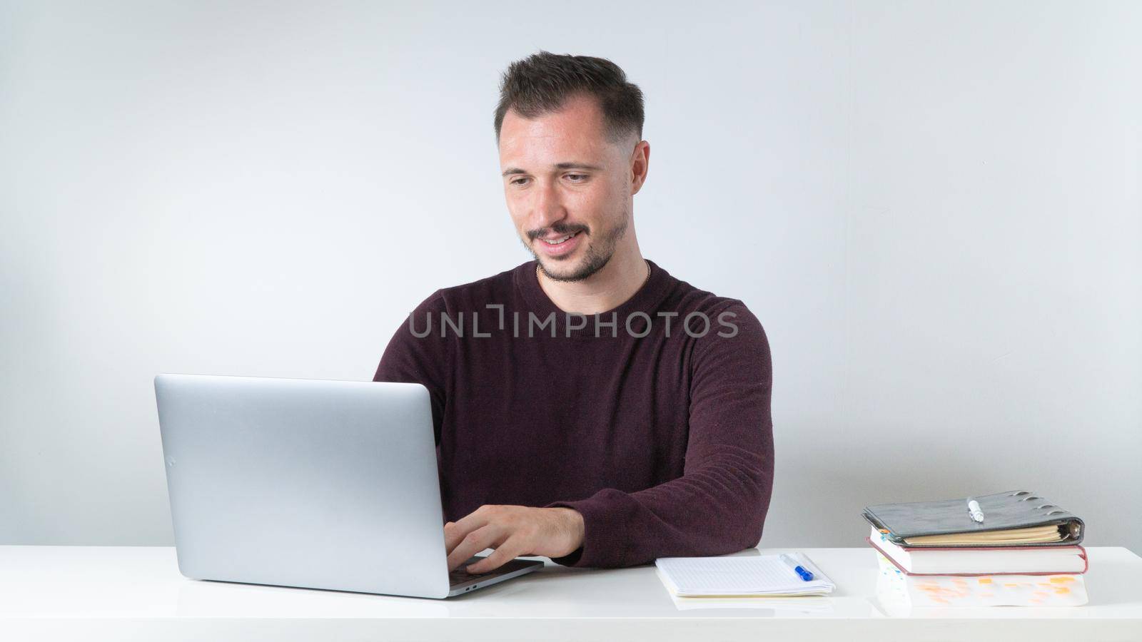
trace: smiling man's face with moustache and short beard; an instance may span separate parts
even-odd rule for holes
[[[612,143],[590,96],[533,120],[509,110],[500,126],[504,194],[523,246],[558,281],[580,281],[628,240],[632,153]]]

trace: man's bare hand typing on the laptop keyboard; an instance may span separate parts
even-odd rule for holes
[[[485,504],[444,524],[448,570],[484,548],[496,552],[467,567],[469,573],[497,569],[517,555],[561,557],[582,545],[582,515],[573,508]]]

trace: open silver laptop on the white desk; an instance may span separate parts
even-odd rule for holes
[[[159,375],[154,392],[188,578],[441,599],[544,565],[448,571],[420,384]]]

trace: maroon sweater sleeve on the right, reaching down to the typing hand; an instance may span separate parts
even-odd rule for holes
[[[726,312],[734,316],[724,316]],[[624,492],[604,488],[576,501],[584,543],[553,561],[627,567],[658,557],[721,555],[756,546],[773,489],[772,364],[761,323],[741,302],[711,316],[691,355],[689,436],[683,474]]]

